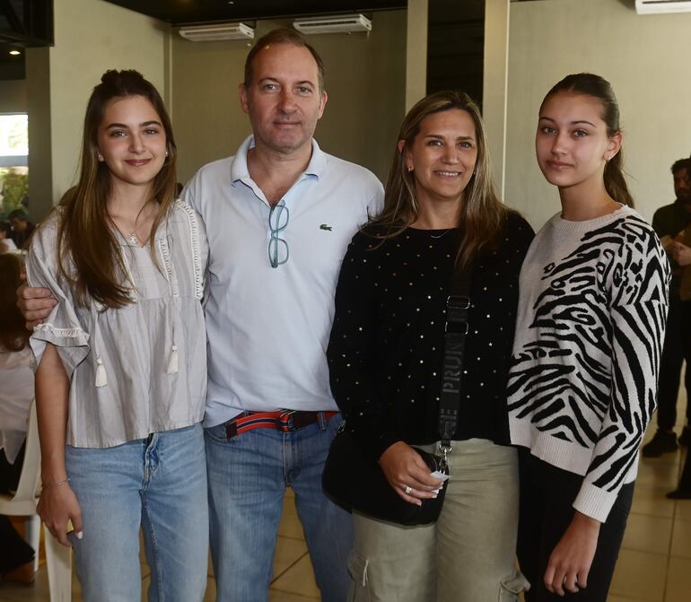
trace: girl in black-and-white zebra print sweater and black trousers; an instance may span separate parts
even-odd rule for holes
[[[561,214],[520,273],[509,413],[529,602],[605,602],[655,408],[669,265],[620,170],[617,100],[597,75],[547,93],[536,151]]]

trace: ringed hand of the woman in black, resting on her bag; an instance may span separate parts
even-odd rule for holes
[[[435,498],[443,481],[430,476],[430,467],[415,449],[403,441],[389,446],[379,458],[381,470],[394,491],[408,503],[422,505]],[[407,492],[407,493],[406,493]]]

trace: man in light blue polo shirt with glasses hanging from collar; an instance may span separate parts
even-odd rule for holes
[[[312,139],[324,66],[294,31],[249,52],[242,109],[253,135],[197,172],[183,198],[209,238],[206,458],[217,600],[267,600],[286,486],[317,585],[343,602],[351,518],[321,490],[341,423],[326,348],[346,247],[383,190]]]

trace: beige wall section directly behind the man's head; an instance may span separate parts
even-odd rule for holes
[[[256,36],[290,22],[260,21]],[[316,139],[328,153],[384,178],[403,118],[406,12],[373,13],[372,33],[310,36],[327,66],[328,105]],[[250,127],[238,100],[246,42],[172,43],[172,106],[179,179],[237,150]]]

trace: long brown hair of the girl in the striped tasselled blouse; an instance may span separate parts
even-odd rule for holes
[[[176,146],[171,118],[153,84],[134,70],[107,71],[92,92],[86,107],[82,140],[82,160],[79,182],[61,202],[62,221],[58,231],[58,266],[60,275],[74,286],[76,300],[83,306],[90,299],[101,305],[119,308],[130,302],[127,268],[120,244],[108,214],[110,171],[105,162],[98,161],[98,131],[106,105],[110,100],[127,96],[143,96],[156,110],[166,135],[168,156],[161,171],[153,179],[152,195],[148,203],[158,203],[149,238],[154,262],[154,236],[176,197]],[[67,257],[71,257],[74,270]],[[156,265],[157,262],[156,262]]]

